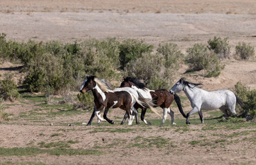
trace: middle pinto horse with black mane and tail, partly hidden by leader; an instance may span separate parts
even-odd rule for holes
[[[156,89],[150,90],[147,89],[144,83],[141,83],[137,78],[125,77],[120,85],[120,87],[131,87],[140,91],[144,97],[152,99],[155,103],[153,107],[161,107],[163,109],[163,116],[161,125],[164,124],[165,120],[167,119],[167,113],[171,115],[171,124],[175,124],[174,122],[174,112],[170,109],[171,103],[175,100],[176,104],[178,105],[178,109],[180,113],[182,113],[183,117],[186,118],[186,115],[183,112],[182,105],[180,104],[180,98],[176,94],[171,94],[167,89]],[[140,119],[145,122],[145,124],[150,125],[151,123],[145,120],[145,113],[147,108],[141,107],[140,104],[134,105],[135,109],[141,108],[141,115]],[[122,123],[125,122],[126,118],[122,120]]]

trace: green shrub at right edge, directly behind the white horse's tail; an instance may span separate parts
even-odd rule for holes
[[[256,116],[256,90],[250,90],[248,87],[242,85],[241,82],[238,82],[235,85],[235,94],[241,98],[242,102],[244,102],[244,106],[242,109],[239,109],[239,114],[242,117],[255,118]]]

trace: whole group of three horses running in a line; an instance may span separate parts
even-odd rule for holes
[[[149,108],[157,115],[160,115],[156,111],[156,107],[161,107],[163,109],[163,115],[160,115],[162,117],[161,124],[164,124],[167,119],[167,113],[171,116],[171,124],[175,124],[174,112],[170,109],[173,100],[175,100],[180,113],[186,118],[186,124],[190,124],[189,116],[196,112],[198,112],[201,122],[204,123],[202,110],[220,109],[224,115],[230,116],[236,115],[236,103],[243,106],[242,100],[240,100],[232,91],[205,91],[198,88],[198,85],[201,84],[190,83],[184,80],[184,78],[181,78],[175,85],[173,85],[171,90],[151,90],[137,78],[125,77],[119,88],[112,89],[111,85],[109,85],[105,79],[98,79],[96,76],[86,76],[80,91],[83,94],[87,91],[92,91],[94,96],[94,111],[87,125],[92,124],[95,115],[98,118],[98,123],[107,120],[110,124],[114,124],[113,120],[107,118],[109,109],[114,108],[125,110],[125,115],[121,124],[124,124],[127,118],[128,125],[132,124],[134,118],[136,118],[136,123],[138,124],[138,109],[140,108],[142,109],[140,119],[145,122],[145,124],[150,125],[151,123],[145,120],[145,113]],[[179,91],[184,91],[191,102],[191,107],[193,109],[187,114],[184,113],[180,98],[176,94]],[[103,118],[100,116],[101,111],[104,111]]]

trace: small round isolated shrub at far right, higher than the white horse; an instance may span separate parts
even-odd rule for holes
[[[248,60],[250,57],[254,58],[255,51],[254,47],[250,46],[248,43],[238,43],[238,45],[235,47],[235,54],[239,56],[242,60]]]

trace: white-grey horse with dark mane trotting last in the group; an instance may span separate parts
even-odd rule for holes
[[[170,90],[173,94],[183,90],[186,97],[189,98],[189,101],[191,102],[191,107],[193,109],[186,114],[186,124],[190,124],[189,116],[195,112],[198,112],[201,122],[204,123],[202,110],[209,111],[220,109],[224,115],[228,116],[236,115],[236,102],[240,106],[244,105],[242,100],[238,98],[233,91],[227,89],[205,91],[204,89],[198,88],[198,85],[202,84],[190,83],[189,81],[184,80],[184,78],[181,78]]]

